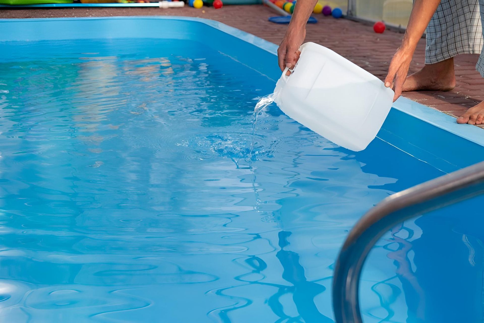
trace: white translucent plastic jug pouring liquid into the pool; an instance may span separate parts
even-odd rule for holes
[[[277,81],[275,103],[335,144],[365,149],[392,108],[392,89],[329,48],[306,43],[300,50],[291,74],[286,76],[286,68]]]

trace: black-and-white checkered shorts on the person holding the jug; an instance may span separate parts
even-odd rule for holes
[[[484,0],[442,0],[426,30],[425,64],[458,54],[479,54],[483,48],[481,15]],[[483,54],[477,70],[484,76]]]

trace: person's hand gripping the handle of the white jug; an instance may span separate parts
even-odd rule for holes
[[[277,58],[279,59],[281,71],[284,71],[286,66],[294,68],[301,54],[299,47],[302,45],[305,37],[306,29],[304,27],[298,28],[289,25],[286,35],[277,49]]]

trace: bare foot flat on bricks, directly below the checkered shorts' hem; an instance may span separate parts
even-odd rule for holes
[[[409,75],[402,92],[450,91],[454,87],[454,58],[450,58],[435,64],[426,64],[420,71]]]

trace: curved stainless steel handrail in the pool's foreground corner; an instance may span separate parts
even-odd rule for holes
[[[333,277],[336,323],[362,323],[358,288],[363,263],[379,238],[417,215],[484,194],[484,162],[454,171],[389,196],[351,229]]]

